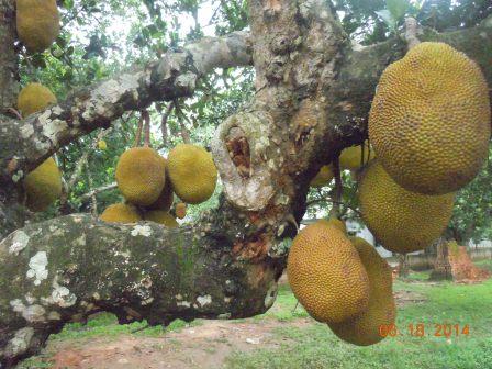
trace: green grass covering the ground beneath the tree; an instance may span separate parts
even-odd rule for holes
[[[478,262],[481,268],[492,271],[492,260]],[[322,368],[398,368],[398,369],[491,369],[492,368],[492,279],[478,284],[454,284],[449,282],[428,283],[428,272],[411,273],[405,282],[396,281],[395,291],[407,291],[424,298],[424,303],[407,303],[398,311],[396,326],[400,334],[388,337],[370,347],[357,347],[339,340],[329,328],[310,321],[309,324],[282,324],[275,329],[275,338],[281,343],[279,348],[258,349],[249,354],[233,353],[226,367],[231,369],[281,368],[281,369],[322,369]],[[308,317],[289,287],[282,286],[273,308],[264,315],[248,321],[265,320],[293,322]],[[192,325],[200,325],[195,321]],[[423,324],[425,335],[412,336],[409,325]],[[438,331],[441,327],[452,327]],[[457,326],[456,326],[457,325]],[[145,326],[145,323],[118,325],[114,316],[100,314],[83,326],[68,324],[62,333],[53,336],[55,340],[83,342],[93,337],[118,339]],[[178,331],[187,326],[176,321],[168,331]],[[469,333],[462,334],[468,326]],[[456,328],[458,327],[458,334]],[[436,336],[441,333],[443,336]],[[446,337],[444,334],[447,334]],[[159,337],[166,332],[161,327],[152,327],[135,335]],[[21,368],[48,367],[40,358],[25,361]]]

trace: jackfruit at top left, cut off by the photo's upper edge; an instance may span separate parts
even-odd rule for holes
[[[48,48],[59,34],[56,0],[16,0],[16,27],[30,53]]]

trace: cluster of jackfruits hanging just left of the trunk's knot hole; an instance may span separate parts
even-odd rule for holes
[[[204,148],[180,144],[167,159],[150,147],[126,150],[118,161],[115,177],[127,204],[109,206],[101,215],[103,221],[133,223],[147,220],[176,227],[176,217],[183,219],[187,206],[178,203],[174,211],[176,217],[170,213],[175,193],[186,203],[208,200],[215,190],[217,171],[211,154]],[[121,211],[121,217],[114,210]],[[128,211],[137,215],[131,222]]]

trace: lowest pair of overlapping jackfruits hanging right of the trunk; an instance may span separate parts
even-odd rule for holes
[[[346,342],[376,344],[380,326],[394,323],[390,267],[364,239],[349,238],[339,220],[317,221],[297,235],[287,275],[308,313]]]

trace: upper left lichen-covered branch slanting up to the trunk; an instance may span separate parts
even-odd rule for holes
[[[125,111],[191,96],[198,79],[213,68],[250,65],[249,47],[248,35],[243,32],[205,37],[166,53],[143,69],[78,90],[24,121],[4,118],[0,121],[0,181],[19,181],[60,146],[109,126]]]

